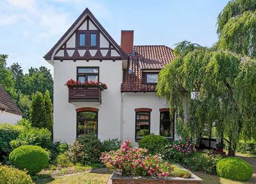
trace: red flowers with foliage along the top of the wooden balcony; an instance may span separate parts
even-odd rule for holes
[[[101,91],[107,89],[107,84],[95,81],[85,81],[81,83],[81,81],[75,81],[74,79],[70,79],[66,82],[65,85],[68,88],[99,88]]]

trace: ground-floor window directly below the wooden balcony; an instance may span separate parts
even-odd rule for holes
[[[96,137],[98,136],[98,112],[77,112],[76,136],[81,134],[94,134]]]

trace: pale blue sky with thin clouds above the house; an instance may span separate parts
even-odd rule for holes
[[[1,0],[0,54],[25,72],[88,7],[120,44],[121,30],[134,30],[134,45],[166,45],[187,39],[202,46],[216,40],[216,18],[229,0]]]

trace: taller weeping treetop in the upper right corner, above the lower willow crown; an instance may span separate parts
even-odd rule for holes
[[[231,0],[217,19],[217,46],[256,57],[256,1]]]

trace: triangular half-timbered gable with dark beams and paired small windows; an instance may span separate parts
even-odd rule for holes
[[[86,8],[44,58],[53,63],[54,60],[127,61],[128,56]]]

